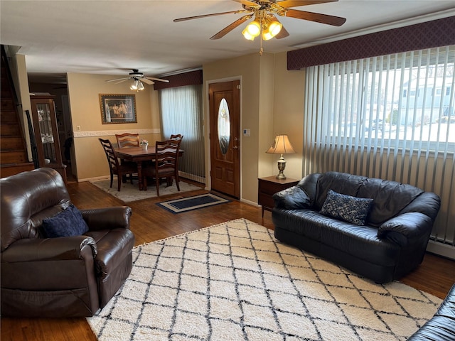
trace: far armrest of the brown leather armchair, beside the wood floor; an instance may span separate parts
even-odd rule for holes
[[[132,215],[131,207],[117,206],[80,210],[82,217],[87,222],[90,231],[100,229],[129,229],[129,218]]]

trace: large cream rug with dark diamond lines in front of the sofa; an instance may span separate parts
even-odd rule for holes
[[[99,340],[406,340],[441,299],[375,284],[232,220],[134,248]]]

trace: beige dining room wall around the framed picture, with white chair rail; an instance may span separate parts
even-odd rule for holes
[[[105,153],[99,138],[115,143],[115,134],[139,133],[141,139],[161,139],[158,94],[145,85],[141,92],[129,90],[129,82],[105,82],[115,76],[68,73],[68,97],[74,134],[75,175],[84,181],[109,175]],[[102,124],[99,94],[135,94],[137,123]],[[77,127],[80,126],[80,131]]]

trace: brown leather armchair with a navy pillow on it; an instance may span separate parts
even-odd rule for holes
[[[80,210],[88,232],[44,238],[43,220],[72,205],[57,171],[38,168],[3,178],[0,195],[1,315],[95,315],[131,272],[131,209]]]

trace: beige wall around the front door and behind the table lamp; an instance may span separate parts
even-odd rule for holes
[[[250,137],[240,139],[241,200],[257,203],[257,178],[278,173],[279,156],[265,153],[276,134],[288,134],[294,141],[297,153],[286,156],[285,174],[300,179],[304,71],[287,71],[286,53],[262,56],[255,53],[205,64],[203,77],[205,136],[208,136],[208,82],[235,77],[241,80],[240,129],[251,129]],[[205,164],[206,177],[210,178],[208,159]]]

